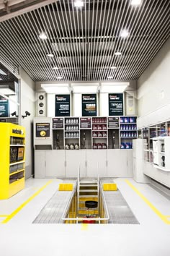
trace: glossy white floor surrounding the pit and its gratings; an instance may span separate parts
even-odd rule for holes
[[[25,189],[9,200],[0,200],[0,223],[50,179],[28,179]],[[148,184],[128,181],[165,216],[170,201]],[[8,223],[0,224],[1,256],[169,256],[170,224],[161,218],[125,182],[115,179],[140,225],[32,224],[40,210],[58,189],[53,179]],[[170,221],[170,218],[169,218]]]

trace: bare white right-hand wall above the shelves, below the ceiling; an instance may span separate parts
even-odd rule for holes
[[[138,80],[138,127],[170,120],[170,38]]]

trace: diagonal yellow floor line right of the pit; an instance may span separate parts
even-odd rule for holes
[[[139,190],[136,189],[135,186],[128,181],[128,179],[125,179],[125,182],[136,192],[136,194],[138,194],[138,196],[140,196],[144,202],[146,202],[146,204],[153,210],[154,213],[156,213],[159,218],[161,218],[162,221],[164,221],[164,223],[170,224],[167,216],[164,216],[164,214],[162,214],[146,197],[144,197],[144,195],[139,192]]]

